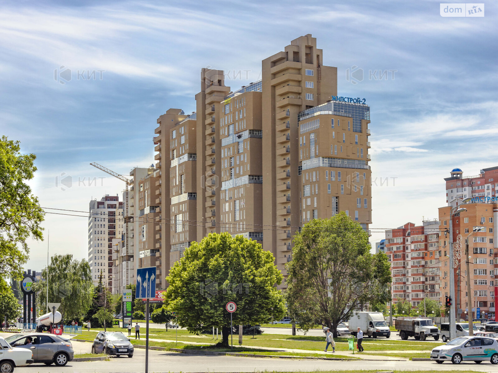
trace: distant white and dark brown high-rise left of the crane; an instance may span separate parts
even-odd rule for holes
[[[113,239],[123,234],[123,216],[123,202],[118,195],[106,194],[100,201],[90,201],[88,263],[94,285],[98,284],[102,273],[103,281],[111,291],[114,282]]]

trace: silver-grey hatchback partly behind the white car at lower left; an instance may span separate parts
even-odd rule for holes
[[[11,346],[29,349],[33,352],[35,363],[58,367],[73,360],[74,351],[69,339],[48,333],[14,334],[5,338]]]

